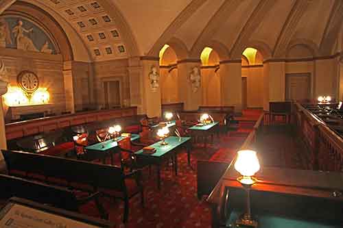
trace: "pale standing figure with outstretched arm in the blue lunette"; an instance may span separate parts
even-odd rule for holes
[[[23,27],[23,21],[18,21],[18,25],[12,29],[12,33],[14,34],[16,38],[16,48],[25,50],[25,51],[38,51],[36,47],[34,46],[34,42],[27,36],[25,36],[25,33],[32,32],[34,29],[25,29]]]

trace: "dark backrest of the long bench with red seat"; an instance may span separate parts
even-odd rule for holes
[[[84,183],[94,188],[110,188],[126,192],[120,167],[95,164],[63,157],[22,151],[2,150],[8,170],[21,170],[68,182]]]

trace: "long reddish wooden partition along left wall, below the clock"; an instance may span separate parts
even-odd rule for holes
[[[41,132],[53,131],[63,127],[82,125],[95,121],[106,121],[113,118],[137,115],[137,107],[126,107],[114,110],[97,110],[37,118],[30,121],[8,123],[5,125],[6,139],[13,140]]]

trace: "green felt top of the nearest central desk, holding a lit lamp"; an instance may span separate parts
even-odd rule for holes
[[[169,136],[168,138],[165,138],[165,142],[168,143],[167,145],[161,145],[162,141],[159,141],[149,146],[156,149],[155,153],[152,153],[152,154],[143,153],[143,149],[137,151],[136,153],[141,154],[141,155],[147,155],[147,156],[161,157],[165,155],[166,153],[168,153],[169,151],[172,151],[176,147],[180,146],[181,144],[191,140],[190,137],[181,137],[180,139],[181,140],[179,140],[179,138],[176,136]]]

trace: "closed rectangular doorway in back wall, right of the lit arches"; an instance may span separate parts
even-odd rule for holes
[[[286,74],[286,101],[305,101],[311,98],[311,74]]]

